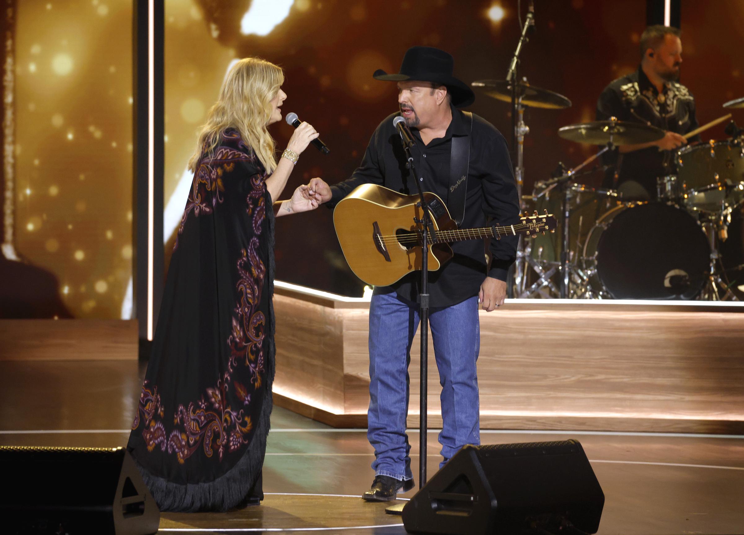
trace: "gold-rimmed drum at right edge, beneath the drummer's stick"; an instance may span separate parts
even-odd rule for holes
[[[710,141],[677,151],[677,176],[682,204],[717,211],[725,200],[725,185],[744,182],[744,147],[740,141]]]

